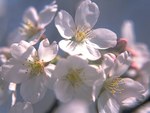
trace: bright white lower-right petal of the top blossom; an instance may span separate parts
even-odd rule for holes
[[[97,60],[101,57],[99,50],[86,44],[83,44],[81,54],[89,60]]]

